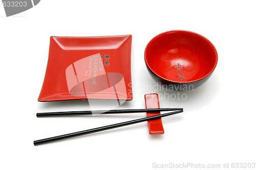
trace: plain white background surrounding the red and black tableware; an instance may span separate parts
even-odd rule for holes
[[[255,1],[41,1],[6,17],[0,5],[0,169],[151,169],[153,163],[256,162]],[[163,118],[165,134],[147,123],[34,147],[33,140],[140,118],[145,114],[36,118],[36,112],[90,109],[84,101],[39,103],[50,36],[133,35],[133,101],[118,109],[144,108],[157,92],[144,64],[154,36],[189,30],[208,38],[219,61],[212,77],[186,92],[184,107]],[[162,93],[161,91],[159,93]],[[98,109],[111,105],[99,102]],[[229,165],[231,166],[231,165]]]

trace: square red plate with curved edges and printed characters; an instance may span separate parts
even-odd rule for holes
[[[132,100],[132,36],[51,37],[39,102]]]

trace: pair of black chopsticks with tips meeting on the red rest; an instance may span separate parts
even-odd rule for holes
[[[141,113],[141,112],[160,112],[160,111],[174,111],[174,112],[168,112],[168,113],[159,114],[159,115],[155,115],[155,116],[134,119],[134,120],[130,120],[130,121],[127,121],[127,122],[118,123],[118,124],[113,124],[113,125],[98,127],[98,128],[94,128],[94,129],[69,133],[69,134],[65,134],[65,135],[54,136],[54,137],[40,139],[40,140],[35,140],[34,145],[44,144],[44,143],[48,143],[48,142],[52,142],[52,141],[77,137],[77,136],[81,136],[81,135],[87,135],[87,134],[101,132],[101,131],[110,130],[110,129],[114,129],[114,128],[119,128],[119,127],[123,127],[123,126],[127,126],[127,125],[133,125],[133,124],[137,124],[137,123],[141,123],[141,122],[155,120],[155,119],[158,119],[158,118],[161,118],[161,117],[166,117],[166,116],[182,113],[183,108],[125,109],[125,110],[109,110],[109,111],[108,110],[95,110],[95,111],[70,111],[70,112],[37,113],[36,114],[37,117],[52,117],[52,116]]]

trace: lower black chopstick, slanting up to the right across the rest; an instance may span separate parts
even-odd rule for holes
[[[145,121],[149,121],[149,120],[158,119],[158,118],[161,118],[161,117],[165,117],[165,116],[169,116],[169,115],[173,115],[173,114],[177,114],[177,113],[181,113],[181,112],[183,112],[183,110],[179,110],[179,111],[175,111],[175,112],[169,112],[169,113],[164,113],[164,114],[158,114],[158,115],[150,116],[150,117],[134,119],[134,120],[130,120],[130,121],[127,121],[127,122],[122,122],[122,123],[108,125],[108,126],[103,126],[103,127],[99,127],[99,128],[94,128],[94,129],[89,129],[89,130],[69,133],[69,134],[65,134],[65,135],[60,135],[60,136],[55,136],[55,137],[35,140],[34,141],[34,145],[44,144],[44,143],[48,143],[48,142],[52,142],[52,141],[72,138],[72,137],[81,136],[81,135],[87,135],[87,134],[96,133],[96,132],[105,131],[105,130],[114,129],[114,128],[119,128],[119,127],[123,127],[123,126],[127,126],[127,125],[133,125],[133,124],[137,124],[137,123],[141,123],[141,122],[145,122]]]

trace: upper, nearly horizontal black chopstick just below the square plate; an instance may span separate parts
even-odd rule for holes
[[[49,117],[49,116],[70,116],[70,115],[93,115],[93,114],[160,112],[160,111],[176,111],[176,110],[183,110],[183,108],[94,110],[94,111],[88,110],[88,111],[67,111],[67,112],[45,112],[45,113],[36,113],[36,116],[37,117]]]

